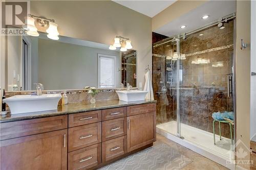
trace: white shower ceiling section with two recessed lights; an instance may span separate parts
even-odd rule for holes
[[[170,37],[179,33],[193,31],[234,12],[236,12],[236,1],[209,1],[154,32]],[[209,18],[201,19],[204,15],[209,15]],[[180,26],[182,25],[185,25],[186,28],[181,29]]]

